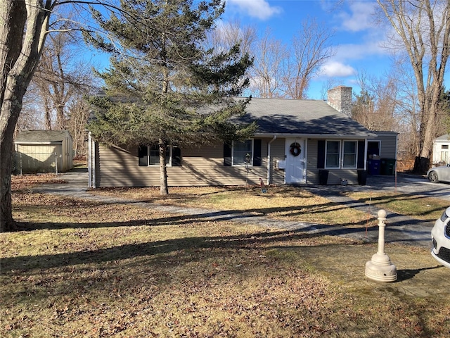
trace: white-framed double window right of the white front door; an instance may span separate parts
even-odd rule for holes
[[[358,142],[356,141],[326,141],[325,168],[356,168]]]

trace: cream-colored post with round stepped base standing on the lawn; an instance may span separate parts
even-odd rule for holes
[[[385,253],[386,211],[383,209],[378,211],[378,227],[378,252],[366,263],[366,277],[376,282],[395,282],[397,267]]]

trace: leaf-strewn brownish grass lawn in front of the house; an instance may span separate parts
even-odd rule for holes
[[[380,284],[364,277],[376,244],[63,199],[15,180],[23,230],[0,234],[1,337],[450,334],[450,270],[428,248],[388,244],[399,280]],[[301,189],[219,190],[172,190],[166,199],[151,189],[102,193],[281,222],[376,224]]]

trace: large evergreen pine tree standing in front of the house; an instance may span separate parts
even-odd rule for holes
[[[206,50],[207,32],[224,11],[221,0],[122,0],[105,18],[93,11],[108,39],[86,35],[111,54],[103,98],[91,99],[100,113],[90,125],[105,144],[158,145],[160,192],[168,194],[166,149],[182,144],[245,139],[255,124],[231,123],[245,113],[252,65],[239,45]]]

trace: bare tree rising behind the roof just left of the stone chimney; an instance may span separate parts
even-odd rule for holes
[[[304,99],[311,77],[317,75],[323,63],[335,54],[330,39],[333,31],[325,25],[309,19],[302,23],[297,36],[293,37],[288,64],[283,77],[286,95],[293,99]]]

